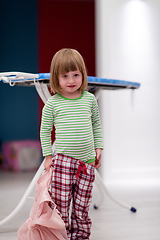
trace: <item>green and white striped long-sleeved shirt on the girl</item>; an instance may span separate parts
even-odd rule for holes
[[[69,99],[55,94],[42,111],[40,138],[43,155],[52,154],[51,131],[55,126],[55,152],[91,162],[95,149],[103,149],[97,101],[92,93],[83,92]]]

